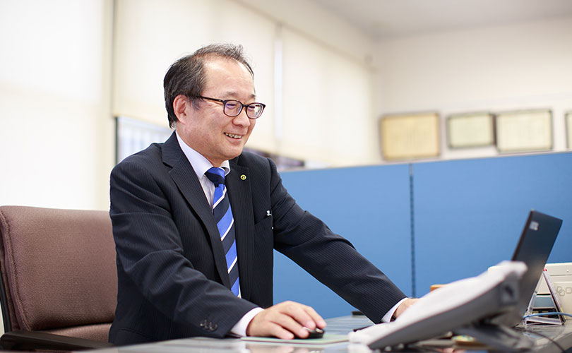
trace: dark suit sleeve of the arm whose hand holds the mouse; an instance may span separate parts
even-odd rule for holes
[[[256,306],[205,277],[184,256],[172,216],[181,210],[172,209],[168,194],[176,188],[165,185],[168,174],[157,174],[144,165],[126,160],[111,174],[110,215],[119,278],[124,281],[119,289],[140,292],[157,311],[180,325],[202,328],[205,336],[223,337]],[[192,232],[185,236],[205,237],[202,229]]]

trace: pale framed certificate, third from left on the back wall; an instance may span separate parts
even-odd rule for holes
[[[552,112],[528,110],[496,114],[499,152],[552,150]]]

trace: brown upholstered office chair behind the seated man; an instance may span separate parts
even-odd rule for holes
[[[112,347],[117,270],[109,214],[1,206],[0,233],[1,348]]]

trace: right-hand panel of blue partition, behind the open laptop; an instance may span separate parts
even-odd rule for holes
[[[531,209],[564,220],[549,263],[572,261],[572,153],[415,163],[415,287],[510,260]]]

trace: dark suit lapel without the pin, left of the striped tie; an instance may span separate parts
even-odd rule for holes
[[[172,177],[174,183],[177,184],[179,191],[181,191],[186,201],[196,215],[198,215],[201,222],[203,222],[203,225],[205,225],[208,237],[210,238],[210,247],[213,250],[218,274],[222,280],[222,284],[230,289],[225,251],[222,249],[222,242],[220,241],[220,234],[215,222],[215,217],[213,217],[213,212],[210,210],[210,205],[208,205],[205,198],[203,187],[198,181],[196,173],[193,167],[191,167],[191,163],[189,163],[189,160],[187,160],[181,150],[175,133],[172,133],[171,137],[163,144],[162,157],[163,162],[172,167],[169,175]],[[234,206],[232,211],[234,213]]]

